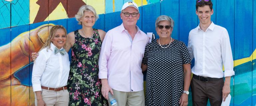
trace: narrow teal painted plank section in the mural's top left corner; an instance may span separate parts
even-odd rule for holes
[[[0,2],[0,28],[10,27],[11,25],[11,2]]]

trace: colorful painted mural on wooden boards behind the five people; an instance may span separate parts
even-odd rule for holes
[[[122,23],[120,11],[127,1],[0,0],[0,106],[34,105],[31,53],[40,50],[51,26],[63,25],[68,32],[81,28],[74,15],[87,4],[100,16],[94,28],[108,31]],[[172,37],[187,44],[189,31],[199,24],[194,0],[133,1],[140,6],[137,26],[144,32],[156,33],[156,18],[168,15],[175,21]],[[212,2],[212,21],[228,30],[232,47],[230,106],[256,106],[256,0]]]

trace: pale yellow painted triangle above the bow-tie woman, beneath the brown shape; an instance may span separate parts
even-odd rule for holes
[[[66,19],[67,18],[67,12],[64,9],[62,3],[60,3],[56,9],[53,10],[53,12],[51,14],[49,14],[49,16],[44,20],[44,21],[49,21],[50,20],[59,20],[59,19]]]

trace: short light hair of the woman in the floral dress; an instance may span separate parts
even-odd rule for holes
[[[85,11],[93,12],[93,14],[95,15],[95,21],[97,21],[99,19],[99,15],[97,15],[95,9],[92,6],[83,5],[83,6],[80,7],[77,14],[75,15],[76,21],[78,21],[78,24],[80,24],[80,25],[82,24],[82,22],[80,21],[80,18],[84,16]]]

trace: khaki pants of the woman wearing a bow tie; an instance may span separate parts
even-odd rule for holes
[[[37,98],[35,94],[35,105],[37,106]],[[46,90],[42,89],[42,98],[46,106],[68,106],[69,93],[68,90]]]

